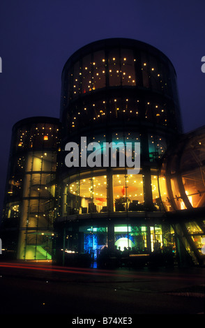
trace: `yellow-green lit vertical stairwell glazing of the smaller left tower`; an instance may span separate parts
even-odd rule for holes
[[[20,259],[52,258],[58,133],[59,126],[52,123],[28,124],[18,130],[17,149],[24,149],[17,255]]]

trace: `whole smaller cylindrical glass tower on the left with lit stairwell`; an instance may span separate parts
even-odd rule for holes
[[[14,258],[51,258],[58,144],[59,119],[31,117],[13,126],[1,231]]]

